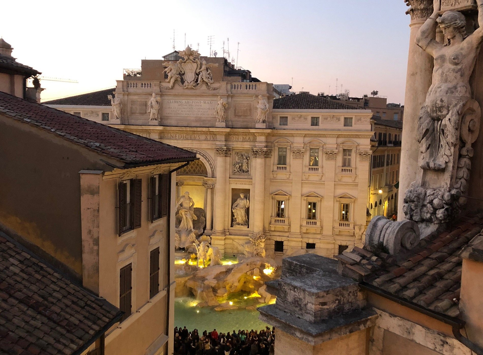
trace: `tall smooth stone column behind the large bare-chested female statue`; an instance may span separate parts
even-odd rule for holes
[[[404,99],[404,125],[399,170],[398,220],[404,220],[402,212],[404,196],[409,185],[416,180],[419,144],[416,139],[419,110],[424,104],[431,86],[433,58],[416,45],[416,35],[421,25],[433,12],[433,0],[405,0],[411,8],[411,34],[409,39],[406,95]],[[435,33],[436,38],[436,33]]]

